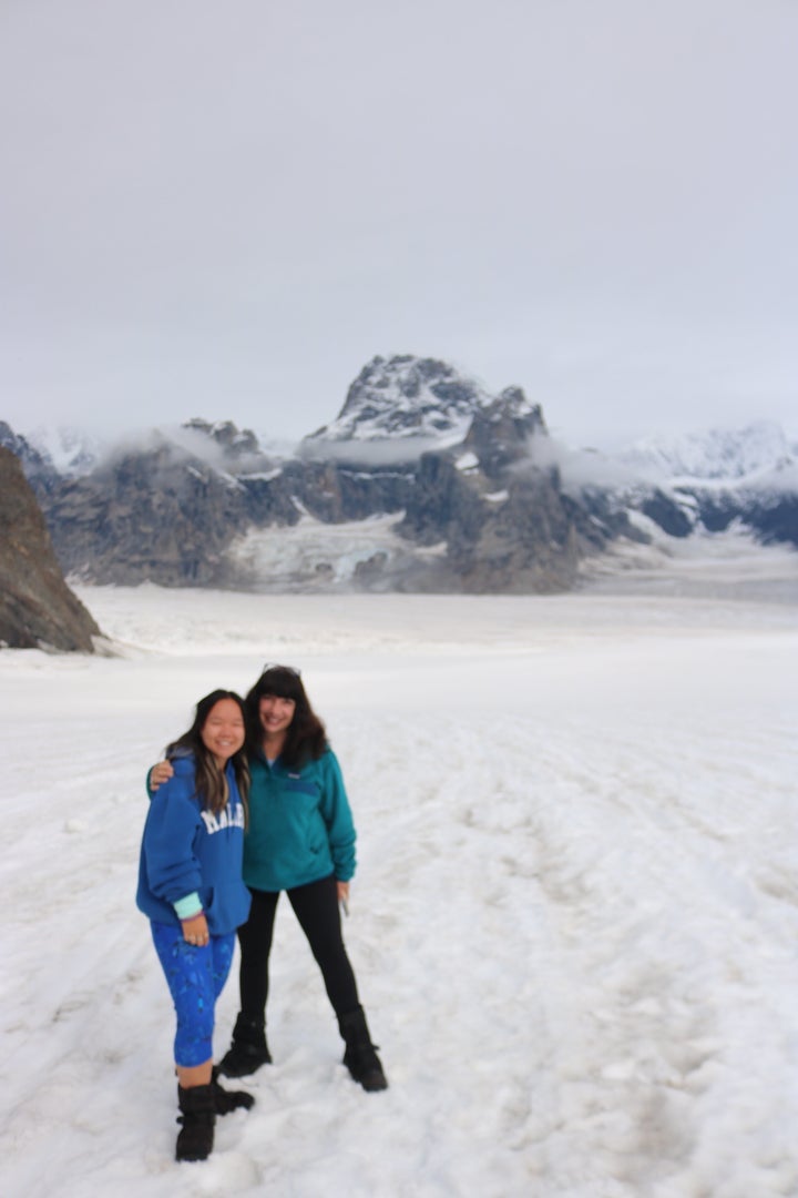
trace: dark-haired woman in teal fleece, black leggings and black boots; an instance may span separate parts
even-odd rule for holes
[[[365,1090],[388,1085],[341,934],[355,830],[341,768],[299,671],[266,666],[245,701],[251,772],[244,881],[250,916],[238,930],[240,1011],[219,1069],[252,1073],[272,1060],[266,1041],[269,954],[281,891],[307,938],[346,1043],[343,1064]],[[152,782],[166,775],[157,766]]]

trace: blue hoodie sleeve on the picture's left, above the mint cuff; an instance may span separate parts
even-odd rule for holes
[[[201,815],[194,801],[194,778],[175,776],[152,797],[144,829],[147,882],[153,895],[175,903],[202,884],[194,840]]]

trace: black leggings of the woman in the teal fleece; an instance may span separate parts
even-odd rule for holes
[[[252,907],[249,919],[238,928],[240,945],[242,1015],[261,1023],[266,1018],[266,1000],[269,996],[269,952],[274,933],[274,916],[280,891],[252,890]],[[311,952],[322,970],[324,988],[340,1017],[354,1011],[359,1005],[358,986],[341,936],[337,883],[333,875],[321,882],[286,890],[303,932],[307,937]]]

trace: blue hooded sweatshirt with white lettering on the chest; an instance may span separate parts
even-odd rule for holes
[[[136,904],[150,919],[179,925],[173,904],[199,894],[213,936],[233,932],[249,915],[242,879],[244,807],[230,762],[230,799],[214,815],[196,794],[194,758],[172,762],[175,776],[152,798],[141,840]]]

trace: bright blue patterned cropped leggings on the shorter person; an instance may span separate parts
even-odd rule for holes
[[[203,1065],[213,1057],[213,1016],[233,960],[236,933],[212,936],[202,946],[188,944],[183,928],[151,922],[152,939],[177,1016],[175,1064]]]

